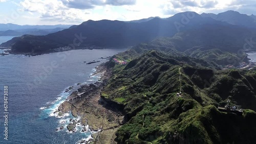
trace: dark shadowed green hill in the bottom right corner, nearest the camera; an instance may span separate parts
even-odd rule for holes
[[[165,138],[168,143],[254,143],[256,129],[250,127],[255,126],[255,114],[250,110],[243,116],[222,113],[213,106],[192,109],[180,115],[178,131]]]

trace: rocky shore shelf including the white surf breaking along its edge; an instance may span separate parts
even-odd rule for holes
[[[70,133],[91,132],[91,136],[77,143],[111,143],[116,137],[115,132],[124,122],[122,108],[101,97],[101,90],[112,75],[109,62],[95,68],[91,77],[99,76],[98,81],[81,85],[53,112],[59,118],[72,114],[74,118],[70,118],[67,126]],[[65,126],[60,126],[56,131],[63,129],[66,129]]]

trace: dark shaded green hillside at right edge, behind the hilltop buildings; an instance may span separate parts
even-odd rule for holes
[[[208,82],[205,86],[210,86],[206,93],[218,103],[229,99],[234,104],[256,111],[255,70],[218,71]]]

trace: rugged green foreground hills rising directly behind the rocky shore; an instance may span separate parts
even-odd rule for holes
[[[123,107],[125,122],[116,132],[118,143],[256,141],[254,111],[239,116],[216,108],[229,99],[255,110],[254,71],[219,71],[214,62],[156,51],[127,65],[109,64],[113,76],[101,97]],[[176,95],[180,90],[183,98]]]

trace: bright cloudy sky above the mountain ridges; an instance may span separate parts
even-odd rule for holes
[[[227,10],[256,15],[255,0],[0,0],[0,23],[18,25],[78,25],[92,20],[136,20]]]

